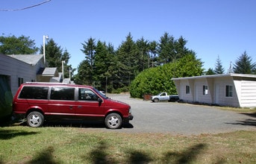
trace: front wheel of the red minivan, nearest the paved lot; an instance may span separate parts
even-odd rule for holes
[[[122,126],[122,118],[118,113],[110,113],[106,116],[105,125],[109,129],[118,129]]]

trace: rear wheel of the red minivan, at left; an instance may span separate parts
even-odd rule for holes
[[[27,124],[30,127],[41,127],[44,122],[43,114],[40,112],[31,112],[27,116]]]

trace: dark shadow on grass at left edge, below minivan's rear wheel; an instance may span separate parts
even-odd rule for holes
[[[22,130],[4,130],[0,129],[0,139],[13,139],[16,136],[34,135],[38,132],[27,132]]]

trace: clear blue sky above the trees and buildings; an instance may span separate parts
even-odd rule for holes
[[[71,55],[77,68],[84,41],[93,37],[117,48],[131,32],[159,41],[165,32],[184,37],[204,68],[215,68],[219,55],[225,72],[247,52],[256,61],[255,0],[0,0],[0,33],[30,37],[38,47],[48,35]]]

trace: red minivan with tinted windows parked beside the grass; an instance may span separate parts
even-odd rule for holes
[[[134,118],[131,107],[107,98],[93,86],[23,83],[13,98],[14,116],[40,127],[50,119],[93,119],[117,129]]]

